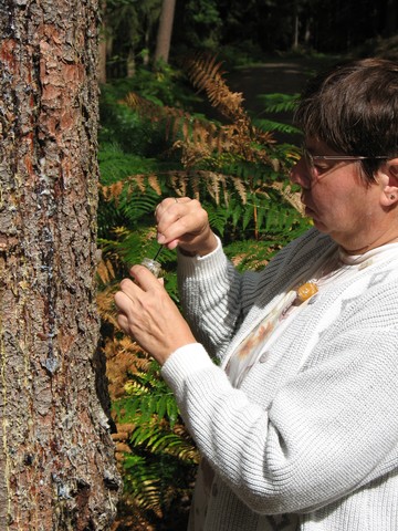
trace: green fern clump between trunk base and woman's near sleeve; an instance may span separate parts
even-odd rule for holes
[[[114,402],[116,421],[134,426],[134,452],[123,464],[125,490],[139,508],[164,514],[189,492],[199,455],[156,362],[130,374],[125,389]]]

